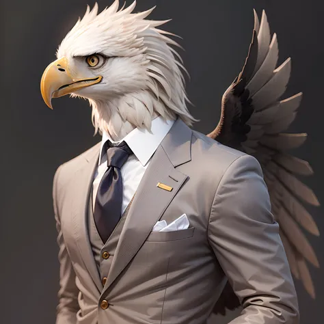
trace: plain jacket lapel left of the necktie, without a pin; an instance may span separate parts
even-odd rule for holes
[[[75,224],[75,239],[84,265],[89,271],[94,283],[101,291],[101,282],[92,254],[92,248],[87,232],[87,208],[92,188],[94,172],[98,166],[100,143],[97,144],[91,154],[85,157],[84,164],[75,173],[75,193],[72,200],[72,217]]]

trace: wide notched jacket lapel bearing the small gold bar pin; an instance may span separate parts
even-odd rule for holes
[[[153,155],[126,217],[105,291],[135,256],[154,224],[185,183],[187,175],[175,167],[190,161],[191,135],[191,129],[180,119],[176,120]],[[172,191],[157,187],[158,183],[172,187]]]

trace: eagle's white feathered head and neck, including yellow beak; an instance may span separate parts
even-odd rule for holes
[[[96,132],[122,138],[135,127],[150,129],[152,118],[175,119],[191,125],[182,60],[170,46],[179,46],[157,29],[167,21],[145,19],[154,8],[132,13],[116,0],[98,14],[87,11],[66,35],[57,60],[42,76],[41,92],[51,98],[66,94],[87,98]],[[181,70],[182,69],[182,70]]]

